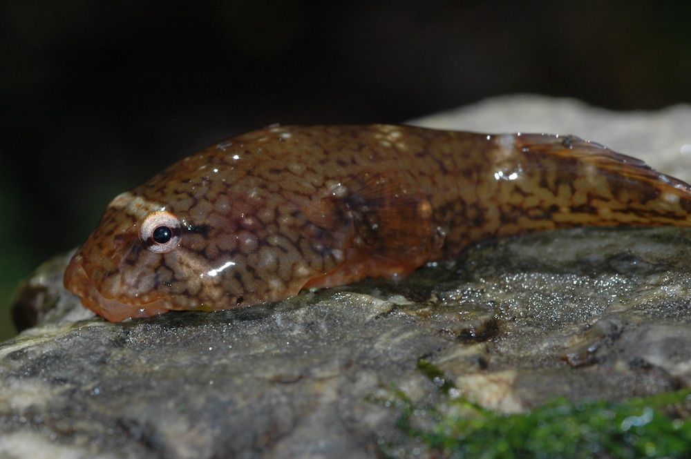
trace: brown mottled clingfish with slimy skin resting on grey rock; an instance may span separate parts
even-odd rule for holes
[[[691,186],[573,136],[269,126],[122,193],[65,286],[111,322],[397,279],[489,237],[691,226]]]

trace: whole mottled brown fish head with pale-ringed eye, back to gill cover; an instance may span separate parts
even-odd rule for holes
[[[342,262],[274,182],[188,163],[108,205],[64,276],[86,308],[120,322],[276,301]]]

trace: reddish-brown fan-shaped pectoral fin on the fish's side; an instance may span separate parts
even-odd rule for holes
[[[307,282],[333,286],[363,277],[402,277],[424,264],[433,243],[428,197],[396,170],[367,171],[305,209],[314,224],[348,227],[341,266]],[[328,209],[328,210],[327,210]]]

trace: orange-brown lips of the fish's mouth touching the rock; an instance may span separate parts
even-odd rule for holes
[[[82,256],[77,253],[67,266],[64,275],[65,288],[80,297],[87,309],[97,313],[108,322],[122,322],[126,319],[147,318],[168,312],[165,300],[159,299],[144,304],[126,304],[102,295],[84,271]]]

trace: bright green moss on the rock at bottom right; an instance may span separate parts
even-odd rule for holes
[[[691,456],[688,389],[624,402],[573,403],[558,399],[529,413],[503,415],[462,397],[454,398],[453,384],[439,369],[424,360],[419,367],[431,380],[444,380],[437,386],[449,395],[438,407],[421,409],[406,394],[395,391],[397,406],[403,409],[397,427],[442,457]]]

